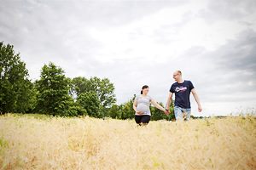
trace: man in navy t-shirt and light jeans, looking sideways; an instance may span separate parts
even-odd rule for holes
[[[195,88],[192,84],[192,82],[188,80],[183,80],[182,78],[182,72],[181,71],[175,71],[173,73],[173,78],[176,81],[172,84],[172,87],[170,88],[169,96],[166,102],[166,112],[169,114],[169,107],[172,102],[172,94],[175,94],[175,102],[174,102],[174,115],[177,121],[188,121],[190,118],[191,113],[191,107],[190,107],[190,101],[189,96],[192,92],[195,101],[198,105],[198,111],[201,112],[201,104],[198,98],[198,95],[195,92]]]

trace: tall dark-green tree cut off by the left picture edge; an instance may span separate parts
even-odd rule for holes
[[[14,46],[0,42],[0,113],[32,110],[32,82]]]

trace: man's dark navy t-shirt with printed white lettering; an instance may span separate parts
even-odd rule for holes
[[[194,88],[192,82],[185,80],[183,83],[173,83],[170,88],[170,92],[175,94],[175,102],[174,105],[184,108],[190,109],[190,92]]]

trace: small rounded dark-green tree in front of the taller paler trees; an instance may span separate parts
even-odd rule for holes
[[[97,118],[102,117],[100,112],[100,100],[97,98],[95,92],[90,91],[79,94],[77,104],[83,107],[89,116],[94,116]]]

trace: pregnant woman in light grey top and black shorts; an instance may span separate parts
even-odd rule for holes
[[[166,110],[159,105],[154,99],[152,99],[150,96],[148,96],[148,86],[143,86],[143,89],[141,91],[140,96],[136,97],[133,102],[133,109],[136,112],[135,113],[135,121],[138,125],[147,125],[150,121],[150,110],[149,105],[153,104],[154,107],[158,108],[160,111],[163,111],[166,113]]]

